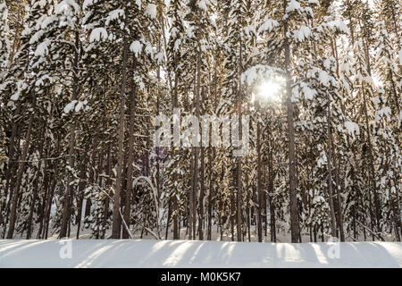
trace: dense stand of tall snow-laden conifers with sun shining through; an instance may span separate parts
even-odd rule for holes
[[[0,0],[1,237],[400,241],[400,15],[396,0]],[[247,153],[155,147],[158,114],[237,115]]]

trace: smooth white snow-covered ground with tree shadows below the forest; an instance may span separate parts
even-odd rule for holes
[[[402,267],[402,243],[0,240],[0,267]]]

